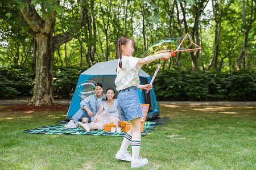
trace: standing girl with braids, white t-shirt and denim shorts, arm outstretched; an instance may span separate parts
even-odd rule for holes
[[[130,121],[131,129],[126,133],[122,145],[115,158],[131,162],[131,168],[143,167],[148,163],[146,158],[139,157],[141,148],[141,104],[137,88],[147,90],[150,84],[139,84],[138,70],[142,65],[151,63],[156,59],[170,58],[170,53],[160,53],[145,58],[131,57],[134,52],[135,42],[129,37],[122,36],[117,41],[119,54],[117,65],[117,78],[115,78],[118,91],[118,108],[122,121]],[[131,143],[132,156],[127,151]]]

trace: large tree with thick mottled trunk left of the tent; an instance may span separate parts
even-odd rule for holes
[[[81,0],[80,28],[86,23],[88,11],[86,1]],[[18,7],[20,19],[27,24],[27,32],[36,39],[35,88],[30,104],[51,105],[53,100],[53,53],[60,45],[73,39],[71,30],[53,36],[57,10],[61,12],[60,1],[24,0]],[[37,9],[35,8],[37,7]],[[39,6],[39,7],[38,7]],[[73,29],[74,31],[75,29]]]

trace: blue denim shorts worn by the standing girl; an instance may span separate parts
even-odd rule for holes
[[[141,103],[139,103],[136,86],[119,91],[117,103],[122,121],[130,121],[142,117]]]

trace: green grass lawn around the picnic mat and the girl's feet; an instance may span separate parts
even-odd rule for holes
[[[255,106],[160,106],[170,117],[142,137],[141,169],[255,169]],[[28,134],[63,112],[0,111],[0,169],[130,169],[123,137]],[[131,147],[129,147],[131,150]]]

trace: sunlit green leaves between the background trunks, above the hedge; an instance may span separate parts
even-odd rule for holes
[[[179,0],[178,2],[179,3],[176,8],[175,1],[128,1],[126,33],[127,36],[133,37],[136,41],[134,52],[135,57],[141,56],[145,50],[144,48],[147,48],[155,41],[170,37],[179,37],[180,31],[183,31],[183,35],[186,33],[185,23],[181,23],[181,28],[178,25],[178,16],[184,15],[181,10],[182,4],[185,7],[184,10],[186,13],[185,18],[188,24],[188,32],[193,35],[195,18],[192,16],[195,16],[193,15],[195,12],[194,10],[196,10],[196,8],[201,8],[201,6],[205,6],[207,1]],[[212,2],[208,2],[208,5],[200,15],[200,41],[203,48],[200,50],[201,59],[199,59],[199,69],[201,71],[203,71],[203,66],[204,68],[207,68],[212,60],[215,45],[215,32],[218,31],[215,27],[216,22],[214,21],[211,3]],[[218,6],[218,1],[213,1],[213,3],[215,7]],[[92,21],[89,22],[90,24],[86,23],[86,26],[83,29],[80,29],[80,1],[64,0],[60,2],[58,0],[32,0],[31,4],[36,6],[36,11],[42,18],[46,17],[49,14],[48,12],[51,12],[52,10],[57,12],[55,35],[69,31],[70,35],[74,36],[73,40],[65,43],[65,48],[64,45],[62,45],[58,51],[54,53],[55,62],[53,65],[78,66],[80,64],[80,50],[82,52],[82,56],[86,56],[86,53],[90,53],[92,48],[96,50],[94,57],[97,62],[106,61],[107,48],[109,51],[109,59],[117,56],[117,49],[115,48],[116,41],[120,36],[125,34],[124,0],[111,2],[93,1],[93,4],[86,1],[85,4],[83,4],[86,5],[89,10],[88,16],[92,16],[94,14],[94,17],[96,18],[96,40],[94,40],[93,36],[94,25]],[[111,7],[109,8],[110,4]],[[251,4],[255,6],[254,1],[249,0],[246,3],[247,25],[249,25],[248,22],[251,18],[249,13],[253,12],[253,16],[255,14],[255,11],[251,9]],[[22,20],[20,20],[18,11],[18,8],[24,8],[25,5],[26,4],[23,0],[0,0],[0,39],[4,42],[0,44],[0,63],[3,66],[23,64],[26,54],[30,55],[24,63],[31,63],[33,41],[31,41],[31,37],[26,33],[29,31],[30,27],[28,27],[26,22],[22,22]],[[221,25],[221,27],[218,27],[218,29],[221,29],[220,44],[218,47],[219,53],[217,61],[213,61],[213,65],[208,71],[216,71],[216,68],[220,68],[220,72],[232,73],[236,70],[236,58],[239,55],[243,44],[244,29],[242,26],[244,26],[244,24],[242,24],[241,2],[226,1],[220,6],[220,8],[217,7],[216,10],[217,18],[222,16],[221,20],[218,22]],[[174,11],[174,14],[172,14],[172,11]],[[142,14],[144,15],[144,20]],[[179,20],[183,20],[183,18],[180,17]],[[143,22],[144,35],[142,31]],[[105,28],[108,32],[108,46],[106,45],[107,37],[105,34]],[[79,31],[77,32],[77,30]],[[254,65],[256,62],[255,30],[255,24],[252,24],[248,37],[245,59],[244,62],[241,63],[243,69],[254,71]],[[242,31],[242,33],[238,37],[240,31]],[[24,39],[24,36],[26,39]],[[81,48],[78,39],[83,42]],[[93,46],[95,44],[96,46]],[[229,54],[231,49],[232,52]],[[226,58],[221,61],[222,57]],[[171,68],[177,67],[175,59],[171,63]],[[81,66],[89,64],[85,59],[82,59],[80,62]],[[191,70],[190,54],[182,52],[180,63],[180,69]]]

